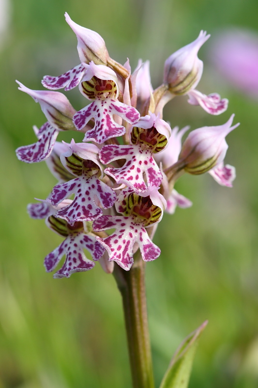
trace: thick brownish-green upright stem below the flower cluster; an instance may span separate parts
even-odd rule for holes
[[[145,295],[145,262],[135,259],[130,271],[115,265],[121,292],[134,388],[154,388],[152,355]]]

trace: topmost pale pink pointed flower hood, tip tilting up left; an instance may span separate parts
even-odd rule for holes
[[[97,32],[76,24],[67,12],[64,15],[77,36],[77,50],[81,63],[89,64],[93,61],[96,65],[106,65],[109,55],[104,39]]]

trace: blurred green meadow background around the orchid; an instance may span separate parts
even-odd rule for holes
[[[229,26],[258,31],[258,3],[12,0],[7,5],[9,26],[0,47],[0,388],[129,388],[121,298],[112,275],[98,264],[68,280],[45,273],[43,259],[61,238],[44,221],[31,220],[26,206],[34,197],[46,198],[56,180],[44,162],[28,165],[15,158],[16,147],[35,141],[32,125],[45,122],[40,106],[17,90],[15,79],[42,89],[45,74],[59,75],[79,63],[65,11],[99,32],[119,62],[129,57],[134,68],[139,57],[150,59],[156,87],[165,59],[201,29],[212,37]],[[190,388],[258,387],[258,101],[214,72],[208,60],[212,37],[199,52],[204,74],[198,89],[228,97],[228,111],[210,116],[179,97],[167,105],[164,118],[172,127],[195,129],[223,124],[236,113],[234,123],[241,126],[228,135],[226,162],[236,166],[237,179],[227,189],[209,175],[181,178],[177,189],[194,205],[165,215],[159,225],[154,242],[162,254],[147,265],[146,279],[157,387],[182,339],[206,319]],[[77,90],[68,97],[76,110],[84,106]]]

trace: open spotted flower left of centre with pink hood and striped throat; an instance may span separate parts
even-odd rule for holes
[[[73,202],[56,213],[57,217],[65,219],[70,225],[75,222],[93,221],[103,214],[100,206],[109,209],[116,200],[115,192],[100,180],[103,177],[103,169],[97,159],[97,152],[98,148],[93,144],[76,144],[72,141],[67,152],[61,155],[63,165],[78,177],[56,185],[52,191],[51,202],[56,206],[71,194],[75,194]],[[70,159],[74,153],[79,160]]]

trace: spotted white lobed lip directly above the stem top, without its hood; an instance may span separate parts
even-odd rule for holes
[[[100,232],[110,228],[116,231],[110,236],[96,239],[106,248],[109,260],[116,261],[129,271],[134,263],[134,245],[139,245],[142,259],[152,261],[160,255],[160,249],[153,244],[142,224],[136,224],[133,217],[102,216],[93,222],[93,230]]]

